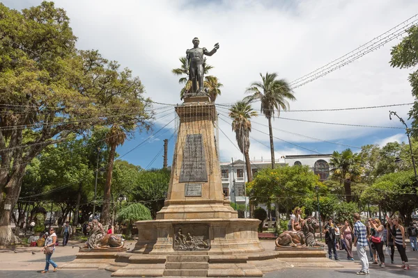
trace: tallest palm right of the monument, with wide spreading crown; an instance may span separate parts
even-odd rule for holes
[[[270,133],[270,152],[272,155],[272,168],[274,169],[274,144],[273,144],[273,131],[272,131],[272,117],[277,112],[277,116],[280,116],[280,111],[283,109],[287,111],[289,103],[287,99],[295,100],[295,96],[292,93],[291,85],[284,79],[277,79],[277,74],[268,72],[263,76],[260,74],[262,82],[254,82],[247,88],[247,92],[251,93],[249,97],[246,97],[246,101],[254,101],[260,99],[261,101],[261,113],[268,119],[268,129]]]

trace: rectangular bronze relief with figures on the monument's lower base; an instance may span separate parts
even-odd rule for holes
[[[207,251],[210,249],[208,224],[175,224],[173,249]]]

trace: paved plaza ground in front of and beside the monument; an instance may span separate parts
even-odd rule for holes
[[[274,240],[261,240],[266,250],[274,249]],[[77,245],[80,243],[71,241],[67,246],[59,246],[52,259],[60,265],[75,259],[77,253]],[[128,241],[125,246],[133,247],[134,242]],[[74,248],[73,248],[74,246]],[[45,256],[39,252],[40,247],[18,247],[15,250],[0,250],[0,277],[1,278],[20,278],[20,277],[89,277],[89,278],[105,278],[110,277],[111,272],[106,270],[68,270],[59,269],[59,272],[50,272],[48,274],[39,273],[45,266]],[[396,251],[396,250],[395,250]],[[32,254],[32,252],[36,252]],[[401,270],[401,260],[398,252],[395,254],[395,263],[392,265],[387,263],[387,268],[378,268],[377,265],[371,265],[369,277],[418,277],[418,251],[412,252],[408,245],[408,258],[411,265],[410,271]],[[354,252],[355,261],[347,261],[346,252],[339,251],[341,265],[343,268],[287,268],[280,271],[268,272],[264,277],[286,277],[286,278],[339,278],[355,275],[359,270],[359,261],[357,252]],[[53,269],[53,268],[51,268]],[[303,276],[302,276],[303,275]]]

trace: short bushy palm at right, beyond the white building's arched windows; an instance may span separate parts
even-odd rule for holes
[[[351,149],[345,149],[341,154],[334,151],[330,159],[332,177],[339,179],[340,184],[344,183],[346,201],[351,202],[351,183],[357,181],[362,174],[361,156],[353,154]]]

